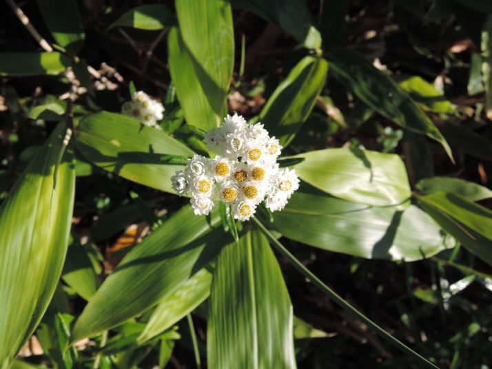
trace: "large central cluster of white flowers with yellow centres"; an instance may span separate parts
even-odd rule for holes
[[[227,116],[222,127],[207,131],[203,142],[218,156],[207,160],[195,155],[185,171],[171,178],[178,195],[192,193],[196,215],[207,215],[216,198],[231,205],[234,218],[249,220],[263,200],[271,211],[283,209],[299,187],[294,169],[278,168],[282,146],[260,123],[248,125],[242,116]]]

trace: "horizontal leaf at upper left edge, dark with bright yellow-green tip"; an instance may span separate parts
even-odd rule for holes
[[[0,54],[0,76],[56,74],[71,64],[61,52],[4,52]]]

